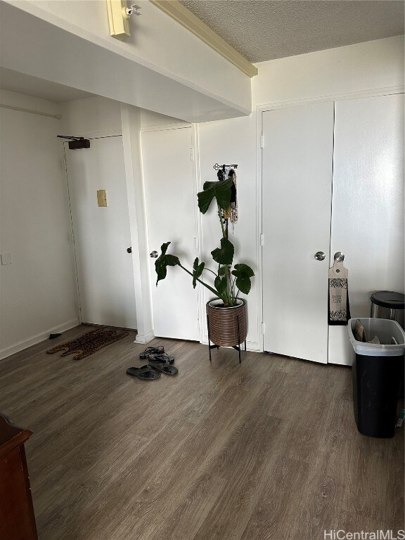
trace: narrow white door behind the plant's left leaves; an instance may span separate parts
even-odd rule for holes
[[[163,243],[172,242],[168,252],[191,269],[198,256],[191,127],[144,131],[141,140],[150,252],[160,253]],[[155,259],[150,258],[150,281],[155,335],[198,340],[198,292],[191,276],[179,266],[169,267],[156,288]]]

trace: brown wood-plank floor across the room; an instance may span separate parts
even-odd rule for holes
[[[26,444],[40,540],[323,540],[404,529],[404,428],[360,435],[351,371],[155,340],[179,375],[141,381],[134,334],[81,361],[0,362]],[[12,540],[12,539],[6,539]]]

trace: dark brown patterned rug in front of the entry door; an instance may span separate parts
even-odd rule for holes
[[[128,334],[129,332],[118,332],[110,328],[96,328],[96,330],[86,332],[75,340],[60,343],[60,345],[52,347],[52,349],[46,351],[46,354],[54,354],[55,352],[64,350],[65,352],[60,356],[68,356],[68,354],[78,352],[79,354],[73,356],[73,360],[81,360],[99,349],[110,345],[110,343],[124,338]]]

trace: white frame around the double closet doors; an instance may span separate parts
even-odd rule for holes
[[[266,328],[264,326],[264,311],[263,311],[263,276],[264,276],[264,269],[263,269],[263,257],[262,257],[262,234],[263,234],[263,200],[262,200],[262,186],[263,186],[263,165],[262,165],[262,154],[263,154],[263,148],[262,148],[262,133],[263,133],[263,113],[269,110],[274,109],[281,109],[281,108],[289,108],[289,107],[295,107],[299,105],[309,105],[310,103],[319,103],[319,102],[326,102],[326,101],[344,101],[349,99],[358,99],[358,98],[364,98],[364,97],[378,97],[378,96],[386,96],[390,94],[404,94],[405,91],[405,85],[401,86],[386,86],[381,88],[375,88],[375,89],[366,89],[366,90],[360,90],[360,91],[354,91],[354,92],[344,92],[340,94],[329,94],[326,96],[311,96],[308,98],[297,98],[293,100],[285,100],[285,101],[274,101],[269,103],[264,103],[263,105],[256,105],[254,114],[256,115],[256,163],[257,163],[257,169],[256,169],[256,187],[257,187],[257,193],[259,196],[257,197],[257,207],[256,207],[256,214],[257,214],[257,267],[260,271],[260,278],[258,279],[257,284],[257,294],[258,294],[258,306],[259,306],[259,313],[260,313],[260,320],[259,323],[259,335],[262,335],[262,339],[259,340],[260,345],[260,352],[264,352],[264,332],[266,331]],[[333,177],[332,177],[332,199],[333,199]],[[266,241],[266,240],[264,240]],[[331,249],[331,248],[330,248]],[[329,266],[333,266],[333,260],[331,260],[332,255],[331,252],[329,253]]]

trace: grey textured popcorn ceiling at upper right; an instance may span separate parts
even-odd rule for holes
[[[180,1],[252,63],[404,34],[404,1]]]

